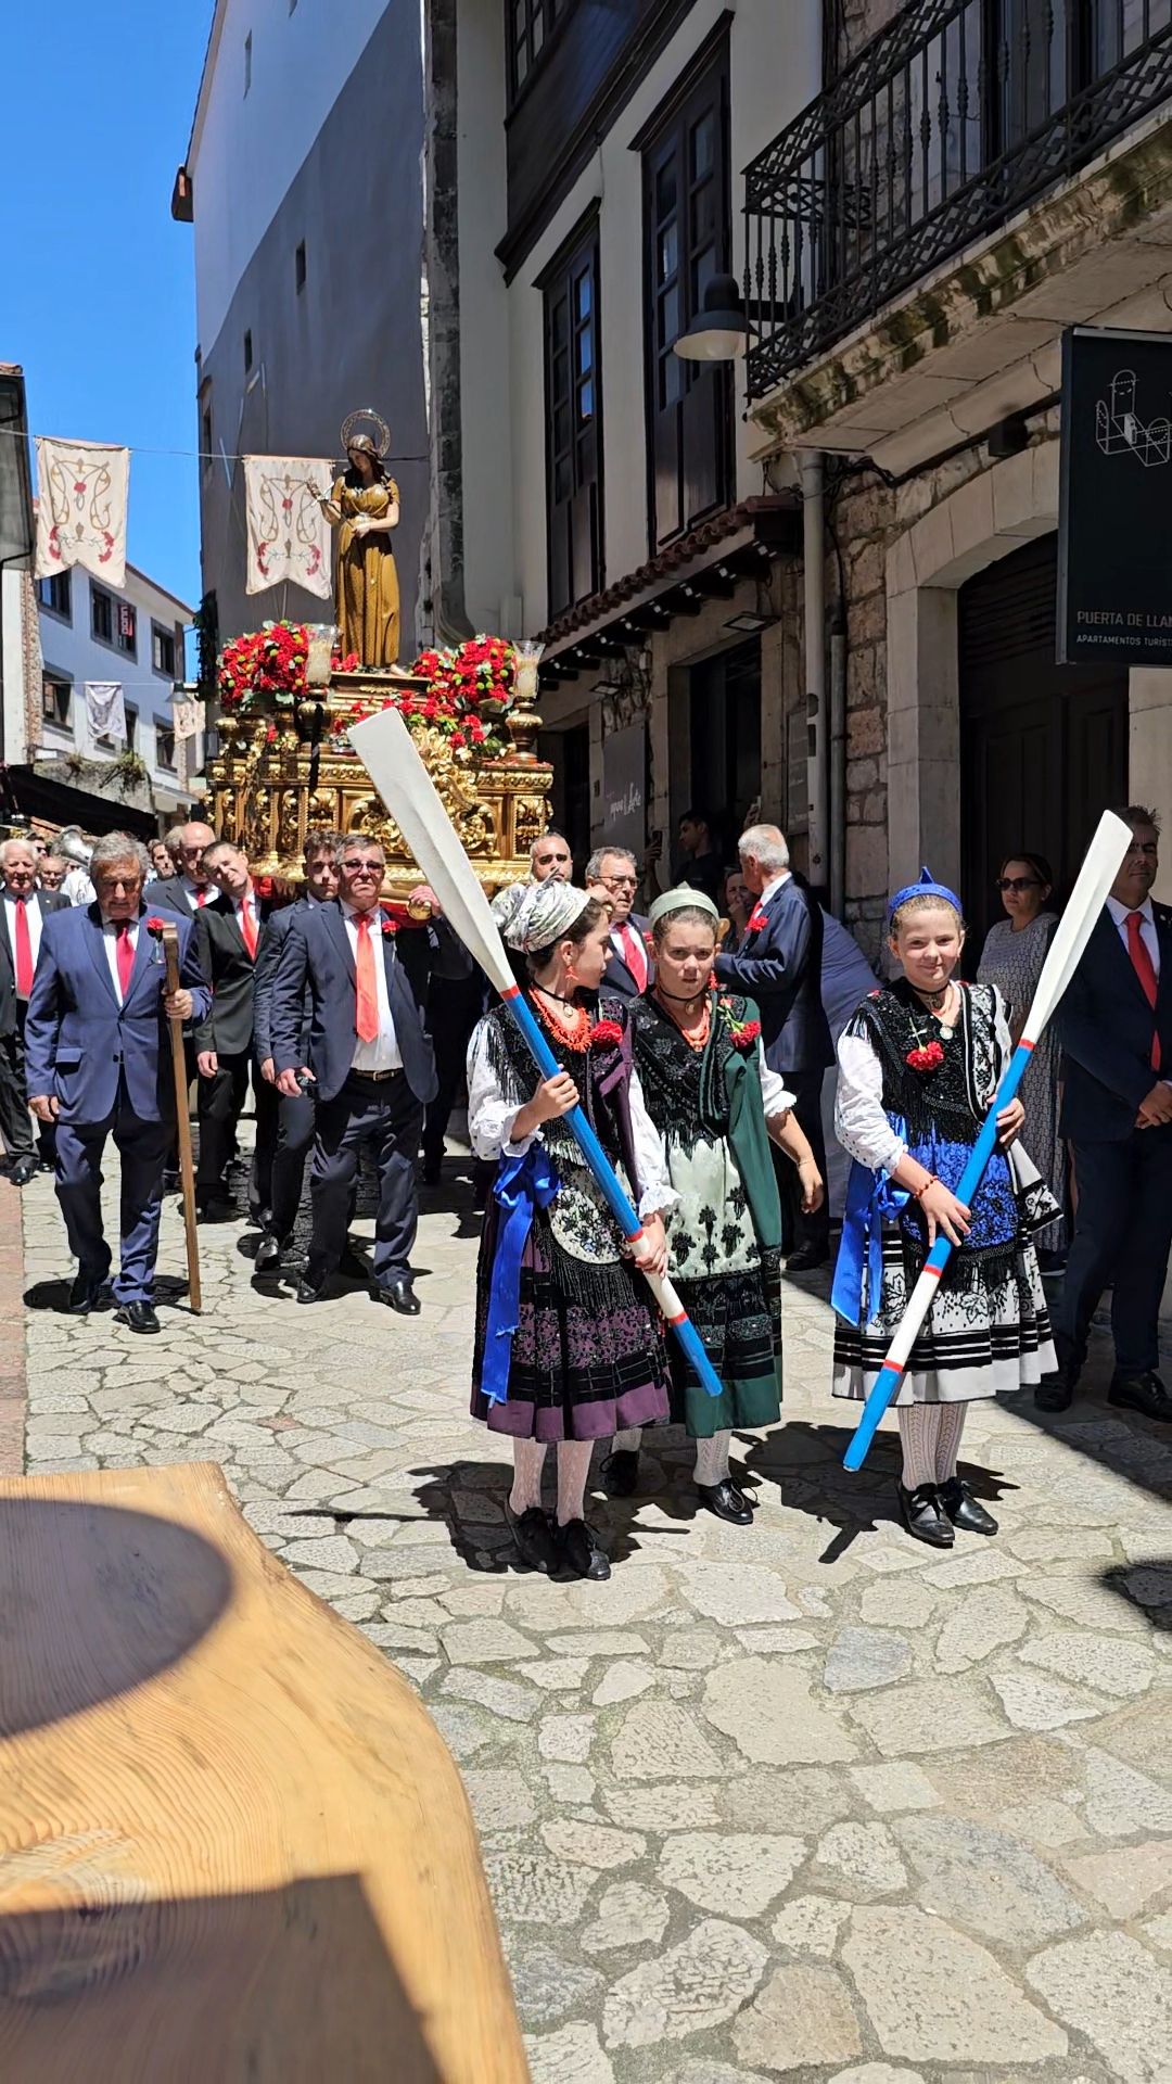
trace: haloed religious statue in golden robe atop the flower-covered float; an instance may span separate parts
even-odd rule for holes
[[[369,421],[373,436],[359,431]],[[398,573],[390,548],[398,527],[398,486],[382,465],[390,448],[390,427],[371,411],[350,413],[342,423],[348,469],[334,479],[329,496],[311,486],[329,527],[338,531],[334,565],[334,615],[340,652],[357,652],[365,667],[398,661]]]

